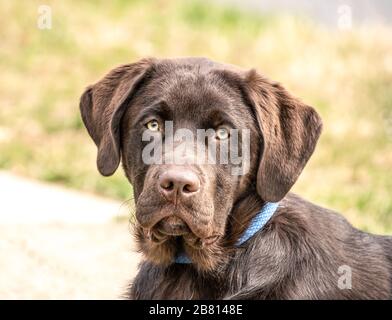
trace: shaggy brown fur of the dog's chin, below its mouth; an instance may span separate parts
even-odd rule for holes
[[[136,227],[136,240],[145,258],[155,265],[175,263],[179,253],[185,253],[191,265],[202,272],[216,272],[227,262],[227,254],[220,245],[221,237],[201,239],[192,233],[184,236],[160,236],[151,230]]]

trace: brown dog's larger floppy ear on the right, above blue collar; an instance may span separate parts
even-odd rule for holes
[[[245,90],[263,136],[257,191],[264,201],[281,200],[312,155],[322,129],[317,112],[291,96],[280,84],[251,70]]]

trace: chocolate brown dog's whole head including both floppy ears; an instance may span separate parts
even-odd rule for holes
[[[185,252],[200,270],[224,262],[262,203],[288,193],[321,132],[314,109],[280,84],[204,58],[120,66],[80,109],[100,173],[121,160],[133,185],[145,256],[168,265]]]

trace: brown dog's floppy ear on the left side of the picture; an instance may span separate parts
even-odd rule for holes
[[[89,86],[80,98],[80,112],[88,133],[98,147],[97,167],[112,175],[120,164],[120,121],[152,60],[119,66]]]

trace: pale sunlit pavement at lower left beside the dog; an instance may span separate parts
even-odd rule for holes
[[[0,172],[0,299],[121,298],[140,260],[127,211]]]

